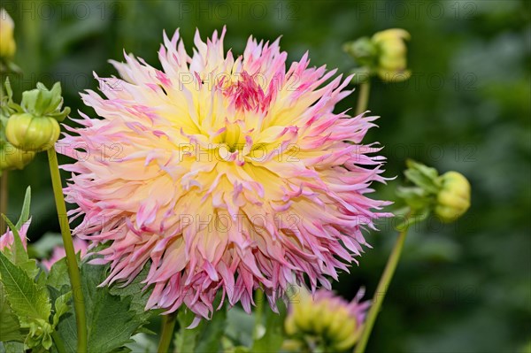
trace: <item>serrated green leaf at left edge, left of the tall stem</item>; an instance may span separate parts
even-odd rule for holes
[[[20,326],[27,326],[32,319],[48,321],[51,304],[46,288],[38,288],[24,270],[13,265],[1,252],[0,274],[7,300],[12,311],[19,317]]]

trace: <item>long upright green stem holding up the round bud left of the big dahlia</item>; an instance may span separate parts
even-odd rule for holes
[[[66,265],[68,266],[68,275],[70,276],[70,283],[72,285],[73,307],[75,309],[78,338],[77,351],[79,353],[85,353],[87,351],[87,318],[85,317],[85,301],[81,290],[80,268],[77,264],[70,225],[66,216],[65,197],[63,196],[63,187],[59,174],[58,155],[53,147],[48,150],[48,161],[50,162],[51,183],[58,210],[59,226],[61,227],[61,235],[63,236],[63,244],[65,246]]]

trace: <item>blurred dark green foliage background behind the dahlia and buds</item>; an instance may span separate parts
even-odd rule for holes
[[[406,157],[458,170],[473,185],[463,219],[430,219],[413,229],[367,351],[514,352],[531,341],[531,3],[527,1],[2,1],[15,20],[12,77],[19,99],[36,81],[61,81],[65,103],[95,116],[79,92],[96,89],[92,72],[115,74],[108,59],[122,50],[158,65],[162,31],[181,35],[189,52],[196,27],[203,37],[227,25],[226,49],[241,53],[249,35],[282,36],[289,61],[310,50],[313,65],[353,68],[342,43],[402,27],[412,35],[412,79],[374,81],[369,107],[389,158],[394,199]],[[357,94],[338,109],[356,104]],[[33,188],[30,238],[58,230],[45,154],[9,175],[10,213]],[[13,217],[14,218],[14,217]],[[352,297],[373,295],[396,239],[391,223],[367,234],[360,265],[335,288]]]

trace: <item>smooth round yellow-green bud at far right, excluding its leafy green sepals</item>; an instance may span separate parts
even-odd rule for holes
[[[437,194],[435,214],[443,222],[452,222],[470,207],[470,183],[458,172],[444,173],[440,179],[442,188]]]

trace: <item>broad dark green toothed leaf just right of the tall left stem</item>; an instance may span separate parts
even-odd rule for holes
[[[130,297],[112,295],[97,286],[105,279],[106,266],[83,264],[81,283],[87,308],[89,353],[110,352],[131,341],[145,322],[131,311]]]

